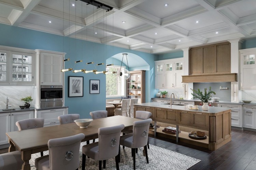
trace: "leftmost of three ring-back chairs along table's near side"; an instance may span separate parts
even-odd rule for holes
[[[58,170],[79,168],[79,150],[83,133],[50,139],[48,141],[49,155],[35,159],[37,170]]]

